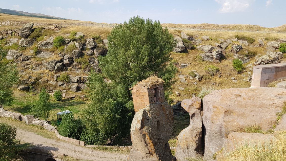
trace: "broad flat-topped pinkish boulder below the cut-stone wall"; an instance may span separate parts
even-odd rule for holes
[[[230,133],[254,125],[265,131],[272,129],[276,125],[276,113],[282,111],[285,101],[286,89],[267,87],[232,88],[206,95],[202,116],[204,159],[211,159],[225,147]]]

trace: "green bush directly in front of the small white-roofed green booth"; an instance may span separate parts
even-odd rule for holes
[[[80,135],[85,128],[82,120],[79,117],[78,119],[75,119],[73,113],[63,114],[61,119],[61,124],[57,127],[59,134],[61,134],[61,136],[80,140]]]

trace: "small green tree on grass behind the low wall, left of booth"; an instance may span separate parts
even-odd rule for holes
[[[47,120],[49,118],[49,112],[51,110],[51,103],[49,101],[50,95],[46,89],[42,89],[39,94],[39,100],[32,106],[30,113],[35,117]]]

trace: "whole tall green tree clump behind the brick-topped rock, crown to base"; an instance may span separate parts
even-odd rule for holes
[[[84,110],[88,144],[120,144],[130,134],[134,117],[132,85],[157,75],[170,87],[177,68],[168,63],[176,42],[159,21],[132,17],[115,26],[108,36],[108,54],[100,56],[102,74],[92,71],[88,80],[90,104]],[[104,81],[107,77],[112,82]]]

